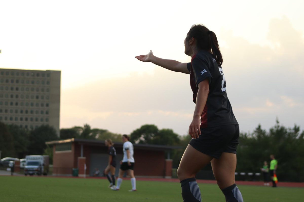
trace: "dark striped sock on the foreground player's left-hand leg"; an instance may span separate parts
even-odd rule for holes
[[[201,191],[194,177],[181,180],[181,196],[184,202],[202,201]]]

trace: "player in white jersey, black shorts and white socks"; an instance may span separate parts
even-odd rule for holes
[[[120,161],[120,169],[117,179],[116,187],[111,187],[112,190],[119,190],[119,187],[123,181],[123,173],[124,171],[129,171],[129,175],[131,177],[132,189],[129,191],[136,191],[136,179],[134,177],[134,148],[133,144],[130,142],[130,137],[128,135],[123,135],[123,160]]]

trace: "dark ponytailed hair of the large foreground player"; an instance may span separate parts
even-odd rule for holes
[[[192,25],[187,33],[187,42],[192,37],[195,38],[196,47],[199,50],[209,51],[213,55],[218,65],[223,64],[223,57],[221,51],[219,50],[219,43],[213,31],[210,31],[204,25]]]

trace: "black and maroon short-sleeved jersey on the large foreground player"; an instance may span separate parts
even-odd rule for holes
[[[217,64],[213,55],[207,51],[199,51],[187,64],[187,68],[190,72],[190,86],[194,103],[199,90],[199,82],[209,79],[209,94],[201,115],[200,127],[238,124],[227,97],[223,69]]]

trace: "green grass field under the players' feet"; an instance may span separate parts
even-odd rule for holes
[[[179,183],[137,181],[136,192],[130,180],[123,180],[119,191],[108,188],[103,179],[78,179],[55,177],[0,176],[1,202],[176,202],[182,201]],[[202,201],[223,202],[225,198],[215,184],[199,184]],[[303,201],[303,188],[259,187],[239,185],[245,202],[295,202]]]

